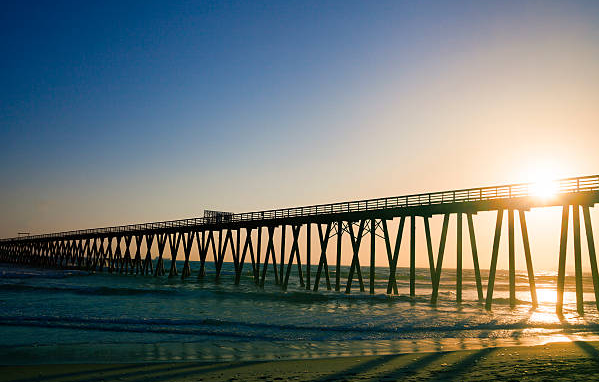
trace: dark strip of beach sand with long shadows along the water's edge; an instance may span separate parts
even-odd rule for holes
[[[599,342],[226,363],[0,366],[1,381],[599,381]]]

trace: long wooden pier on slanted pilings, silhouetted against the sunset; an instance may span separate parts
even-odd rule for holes
[[[205,276],[206,260],[212,259],[216,268],[215,278],[218,280],[221,278],[225,256],[230,255],[235,267],[235,277],[232,281],[237,284],[240,282],[244,265],[249,258],[254,282],[262,287],[265,283],[272,282],[280,286],[281,289],[286,290],[290,277],[293,273],[296,273],[300,285],[307,290],[317,291],[324,280],[328,290],[334,288],[336,291],[341,291],[343,289],[345,293],[350,293],[352,283],[357,281],[360,290],[365,292],[364,278],[366,277],[368,278],[369,293],[374,294],[376,277],[375,248],[377,239],[382,239],[389,264],[387,293],[397,294],[396,269],[404,226],[406,219],[409,219],[410,296],[414,297],[416,295],[416,223],[417,220],[421,220],[426,237],[432,282],[431,303],[435,304],[439,294],[450,216],[455,215],[457,224],[457,303],[462,300],[462,236],[465,216],[478,299],[485,304],[487,309],[491,309],[501,230],[504,215],[507,211],[510,305],[515,306],[517,302],[514,250],[516,235],[514,215],[517,212],[528,271],[531,301],[533,306],[536,306],[537,296],[526,226],[526,211],[531,208],[561,206],[563,212],[560,248],[559,251],[556,249],[556,254],[559,254],[556,311],[561,313],[563,308],[568,222],[571,212],[577,309],[582,314],[584,308],[580,237],[581,211],[590,257],[595,301],[599,309],[599,276],[589,212],[589,209],[599,202],[599,175],[561,179],[553,184],[555,193],[550,198],[536,195],[534,192],[536,185],[534,183],[523,183],[248,213],[233,214],[207,211],[202,218],[20,236],[0,240],[0,262],[159,277],[167,274],[165,257],[168,254],[168,258],[171,259],[168,266],[168,277],[203,278]],[[483,293],[483,283],[479,269],[473,218],[480,211],[497,211],[486,298]],[[429,219],[434,215],[443,215],[440,242],[436,253],[431,239],[429,223]],[[395,244],[392,246],[392,235],[388,229],[388,222],[393,219],[399,219],[399,224],[395,235]],[[304,233],[305,241],[300,240],[301,233]],[[317,242],[320,244],[320,248],[315,248],[314,252],[311,248],[313,234],[318,235]],[[344,235],[349,235],[350,238],[352,260],[349,275],[343,288],[340,266]],[[370,246],[368,246],[367,240],[364,240],[368,236],[370,237]],[[331,239],[334,239],[336,246],[329,245]],[[285,253],[286,240],[291,240],[292,243],[291,251],[288,254]],[[263,241],[266,242],[264,254],[262,254]],[[200,270],[195,276],[192,275],[189,265],[194,247],[200,259]],[[370,248],[368,249],[368,247]],[[142,253],[142,249],[145,249],[145,253]],[[360,249],[370,251],[370,272],[367,275],[362,274],[362,266],[358,256]],[[336,251],[334,270],[332,270],[333,265],[329,267],[327,251]],[[185,260],[182,269],[178,269],[176,263],[179,253],[183,254]],[[300,253],[305,254],[305,268],[302,267]],[[313,254],[315,255],[314,259],[317,260],[314,263]],[[262,255],[264,255],[263,259]],[[157,260],[154,262],[155,257],[157,257]],[[315,272],[312,265],[316,265]],[[272,266],[274,277],[272,280],[267,281],[269,266]],[[296,268],[296,272],[294,272],[294,268]],[[334,279],[331,278],[332,273],[334,273]],[[314,277],[313,281],[312,277]]]

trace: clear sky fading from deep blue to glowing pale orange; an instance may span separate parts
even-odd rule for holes
[[[0,237],[597,174],[598,42],[596,1],[7,2]]]

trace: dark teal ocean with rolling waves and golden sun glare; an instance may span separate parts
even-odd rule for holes
[[[168,265],[168,261],[167,264]],[[183,264],[179,265],[182,269]],[[507,271],[498,271],[493,309],[477,301],[474,272],[464,270],[463,302],[455,302],[455,271],[444,269],[439,301],[430,304],[428,269],[399,268],[398,296],[386,295],[388,268],[377,267],[374,295],[302,289],[293,269],[286,292],[267,275],[264,289],[249,272],[235,286],[225,263],[219,282],[207,263],[192,276],[155,278],[77,270],[0,266],[0,359],[3,364],[235,361],[382,355],[596,340],[599,314],[584,275],[585,315],[576,313],[568,274],[564,316],[555,314],[552,272],[537,272],[539,307],[532,310],[526,272],[518,272],[519,305],[511,309]],[[167,268],[168,269],[168,268]],[[314,271],[314,266],[312,268]],[[272,271],[272,268],[271,268]],[[349,267],[342,267],[342,290]],[[481,271],[486,293],[487,272]],[[331,275],[334,282],[334,272]],[[312,281],[314,276],[312,277]]]

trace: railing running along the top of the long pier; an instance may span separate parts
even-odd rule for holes
[[[551,187],[551,192],[552,194],[555,194],[555,197],[559,197],[563,194],[599,191],[599,175],[564,178],[551,181],[548,185]],[[546,185],[543,184],[543,186]],[[228,215],[226,217],[226,222],[251,222],[272,219],[308,217],[316,215],[332,215],[350,212],[429,206],[438,204],[481,202],[496,199],[534,197],[538,196],[535,192],[535,189],[538,187],[539,183],[530,182],[503,186],[479,187],[462,190],[393,196],[349,202],[317,204],[304,207],[291,207],[255,212],[243,212]],[[214,217],[198,217],[190,219],[168,220],[151,223],[129,224],[121,226],[66,231],[42,235],[30,235],[24,237],[2,239],[0,241],[63,238],[70,236],[93,234],[118,234],[123,232],[157,230],[173,227],[193,227],[214,224],[215,222],[216,221]]]

